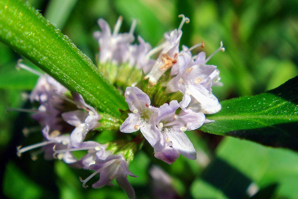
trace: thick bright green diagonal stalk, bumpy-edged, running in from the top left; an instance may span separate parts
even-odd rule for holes
[[[103,112],[128,109],[91,60],[27,2],[0,0],[0,41]]]

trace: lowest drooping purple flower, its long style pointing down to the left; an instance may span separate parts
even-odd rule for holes
[[[122,155],[109,155],[105,159],[97,159],[95,164],[90,165],[89,169],[95,172],[85,180],[80,178],[83,187],[87,187],[86,182],[99,173],[100,179],[92,185],[93,188],[101,188],[105,185],[113,186],[111,181],[116,178],[116,182],[126,192],[128,198],[135,198],[134,189],[128,182],[127,175],[137,176],[128,170],[128,162]]]

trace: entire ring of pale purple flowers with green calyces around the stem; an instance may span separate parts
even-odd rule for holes
[[[182,46],[179,50],[181,28],[189,22],[184,15],[180,17],[179,28],[165,33],[165,41],[153,49],[140,36],[139,44],[133,43],[136,20],[128,33],[119,33],[122,23],[119,17],[111,33],[107,22],[99,19],[101,32],[94,33],[100,49],[98,70],[123,91],[129,110],[122,110],[121,117],[111,119],[107,113],[86,104],[80,94],[69,92],[48,75],[40,75],[30,100],[40,104],[32,118],[40,123],[45,141],[18,148],[18,155],[43,146],[46,158],[57,157],[71,166],[95,171],[85,180],[80,178],[83,187],[99,174],[100,179],[93,188],[112,185],[111,181],[116,179],[129,198],[135,194],[127,175],[136,176],[128,170],[128,163],[144,139],[153,147],[154,156],[168,164],[175,162],[180,154],[196,159],[195,148],[186,134],[212,122],[204,114],[221,109],[211,89],[212,85],[219,84],[219,70],[207,62],[224,48],[221,42],[208,58],[204,52],[191,54],[194,48],[204,47],[204,42],[191,48]],[[159,55],[155,60],[151,57],[156,53]],[[115,132],[115,140],[98,143],[89,136],[90,131],[94,132],[92,135],[100,135],[103,129]],[[141,134],[137,136],[117,139],[120,132],[138,131]],[[72,152],[78,150],[85,150],[86,154],[76,158]]]

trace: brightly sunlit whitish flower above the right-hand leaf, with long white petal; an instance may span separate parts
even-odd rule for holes
[[[212,82],[219,79],[219,71],[216,66],[205,64],[205,53],[198,54],[195,61],[187,52],[178,56],[179,73],[167,84],[170,92],[183,93],[181,107],[187,107],[191,102],[191,96],[198,101],[198,111],[215,113],[221,109],[218,99],[212,94]]]

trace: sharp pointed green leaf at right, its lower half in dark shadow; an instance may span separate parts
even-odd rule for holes
[[[200,130],[298,150],[298,76],[273,90],[221,102]]]

